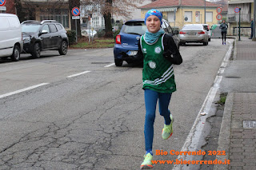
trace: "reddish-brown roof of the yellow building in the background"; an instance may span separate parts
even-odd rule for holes
[[[180,2],[180,3],[179,3]],[[205,6],[205,0],[157,0],[155,2],[149,3],[146,6],[141,6],[139,8],[141,9],[151,9],[151,8],[162,8],[162,7],[177,7],[177,6],[197,6],[197,7],[203,7]],[[219,5],[207,2],[207,7],[218,7]]]

